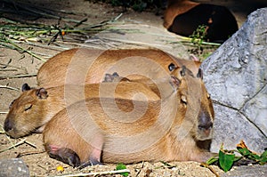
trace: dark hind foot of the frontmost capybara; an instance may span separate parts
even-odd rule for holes
[[[81,164],[80,158],[72,149],[59,148],[53,145],[44,145],[44,148],[50,157],[60,160],[63,163],[71,165],[72,167],[77,167]]]

